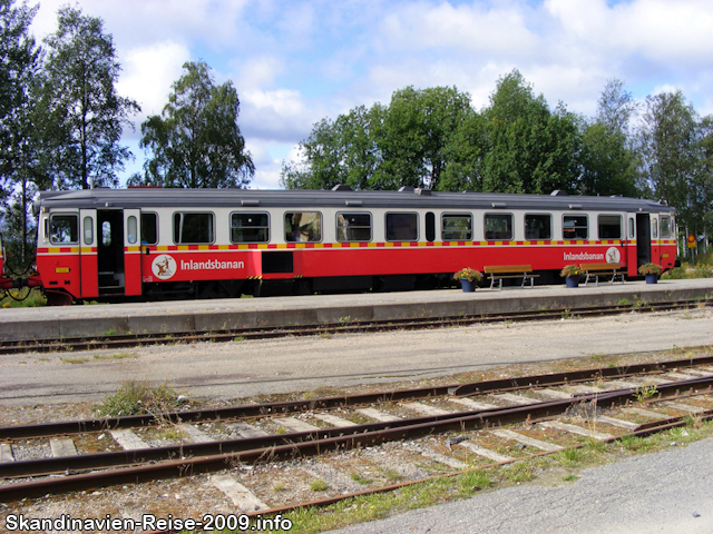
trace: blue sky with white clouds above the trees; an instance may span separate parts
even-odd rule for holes
[[[32,6],[37,0],[29,0]],[[39,0],[31,32],[57,29],[65,0]],[[457,87],[476,109],[498,78],[518,69],[550,107],[587,117],[607,80],[635,99],[681,89],[713,113],[711,0],[78,0],[114,38],[119,95],[135,99],[123,145],[140,171],[140,125],[159,115],[186,61],[231,80],[238,126],[256,172],[252,188],[279,188],[283,161],[323,118],[388,105],[408,86]]]

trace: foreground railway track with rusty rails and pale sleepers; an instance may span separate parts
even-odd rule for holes
[[[388,462],[401,466],[395,485],[411,484],[576,448],[589,439],[658,432],[684,425],[686,417],[711,418],[712,390],[709,356],[451,387],[10,426],[0,428],[6,459],[0,502],[167,478],[204,477],[208,484],[216,476],[208,473],[222,473],[260,503],[251,512],[284,511],[303,501],[284,502],[265,488],[277,487],[275,477],[285,472],[299,471],[305,484],[326,478],[334,488],[326,501],[333,502],[392,488],[394,477],[380,467],[384,457],[395,457]],[[191,443],[150,446],[159,424],[178,427]],[[92,452],[99,435],[123,448]],[[65,445],[56,447],[59,457],[7,461],[25,443],[51,436],[64,436]],[[340,473],[345,464],[350,471]]]

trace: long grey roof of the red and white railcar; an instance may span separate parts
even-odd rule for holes
[[[555,191],[557,192],[557,191]],[[654,200],[628,197],[440,192],[401,188],[399,191],[262,189],[80,189],[42,191],[38,208],[410,208],[675,211]]]

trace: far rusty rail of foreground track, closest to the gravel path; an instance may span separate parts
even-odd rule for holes
[[[624,378],[644,373],[665,373],[678,367],[695,367],[713,364],[713,356],[700,356],[686,359],[671,359],[649,364],[635,364],[618,367],[599,367],[565,373],[530,375],[496,380],[482,380],[471,384],[397,389],[338,397],[323,397],[310,400],[285,400],[268,404],[248,404],[226,408],[208,408],[185,412],[170,412],[156,415],[133,415],[124,417],[102,417],[96,419],[43,423],[37,425],[13,425],[0,427],[0,441],[30,439],[56,435],[105,432],[116,428],[144,428],[158,423],[201,423],[208,421],[240,419],[266,415],[295,414],[315,409],[331,409],[362,404],[388,403],[408,398],[427,398],[442,395],[477,395],[509,392],[529,387],[551,387],[564,384],[589,382],[597,378]]]

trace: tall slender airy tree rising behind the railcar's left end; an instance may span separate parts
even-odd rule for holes
[[[40,116],[43,167],[53,187],[117,185],[117,171],[131,157],[119,145],[138,103],[117,95],[120,66],[113,38],[99,18],[64,7],[57,32],[45,40]]]

